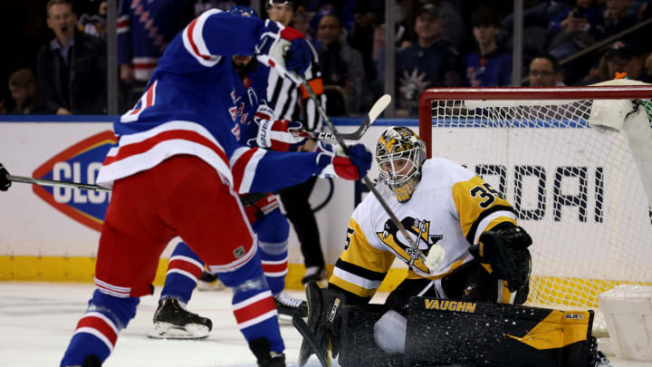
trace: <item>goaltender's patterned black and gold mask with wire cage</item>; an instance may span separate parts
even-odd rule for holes
[[[412,198],[425,160],[426,144],[414,131],[402,126],[385,130],[376,144],[380,179],[388,184],[400,203]]]

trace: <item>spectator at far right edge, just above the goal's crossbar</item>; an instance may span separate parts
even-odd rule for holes
[[[652,83],[652,78],[644,67],[647,55],[622,43],[617,44],[605,53],[604,61],[608,72],[605,80],[614,79],[617,73],[626,72],[629,79]]]

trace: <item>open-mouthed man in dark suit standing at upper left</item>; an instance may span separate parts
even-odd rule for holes
[[[40,100],[47,113],[106,112],[106,44],[77,30],[68,0],[45,5],[55,37],[43,44],[36,60]]]

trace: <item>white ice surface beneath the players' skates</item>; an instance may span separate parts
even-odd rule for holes
[[[158,287],[159,288],[159,287]],[[0,282],[0,366],[58,366],[94,285]],[[291,295],[304,297],[302,292]],[[120,333],[105,367],[254,367],[231,313],[229,291],[196,292],[188,309],[213,320],[204,341],[149,339],[158,293],[142,297],[136,318]],[[301,336],[292,325],[282,325],[288,366],[297,366]],[[652,363],[613,361],[617,367],[652,367]],[[307,364],[318,367],[312,356]],[[333,366],[338,366],[337,362]]]

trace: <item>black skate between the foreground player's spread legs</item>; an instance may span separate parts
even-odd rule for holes
[[[153,321],[149,337],[154,339],[206,339],[213,328],[209,319],[188,312],[176,298],[158,301]]]

